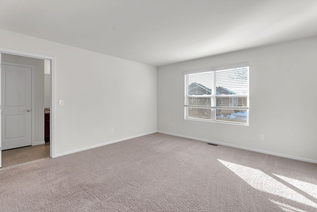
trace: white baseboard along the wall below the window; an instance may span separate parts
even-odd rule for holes
[[[198,141],[210,142],[213,144],[223,145],[223,146],[227,146],[227,147],[234,147],[234,148],[243,149],[243,150],[249,150],[249,151],[253,151],[253,152],[257,152],[257,153],[264,153],[264,154],[272,155],[272,156],[279,156],[282,158],[296,159],[296,160],[301,160],[301,161],[305,161],[305,162],[317,163],[317,160],[313,160],[313,159],[300,158],[300,157],[296,157],[296,156],[268,152],[268,151],[264,151],[264,150],[258,150],[258,149],[254,149],[254,148],[243,147],[243,146],[238,146],[238,145],[233,145],[233,144],[226,144],[226,143],[222,143],[222,142],[211,141],[211,140],[207,140],[207,139],[200,139],[200,138],[195,138],[195,137],[190,137],[190,136],[185,136],[185,135],[178,135],[178,134],[168,133],[168,132],[163,132],[163,131],[158,131],[158,133],[177,136],[177,137],[181,137],[181,138],[188,138],[188,139],[193,139],[193,140],[198,140]]]

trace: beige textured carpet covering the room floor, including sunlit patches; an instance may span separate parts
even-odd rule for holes
[[[159,133],[0,171],[1,212],[316,212],[317,164]]]

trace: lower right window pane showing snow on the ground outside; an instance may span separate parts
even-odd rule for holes
[[[216,109],[217,121],[247,123],[248,111],[243,109]]]

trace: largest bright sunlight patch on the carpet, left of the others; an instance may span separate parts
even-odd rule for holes
[[[307,199],[298,192],[287,187],[283,183],[278,182],[274,178],[268,176],[263,171],[232,162],[217,159],[231,171],[237,174],[241,179],[251,185],[253,188],[269,194],[277,195],[301,204],[305,204],[317,208],[317,204]]]

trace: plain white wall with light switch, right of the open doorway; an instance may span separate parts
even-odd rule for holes
[[[157,67],[5,30],[0,47],[56,58],[57,156],[157,130]]]

